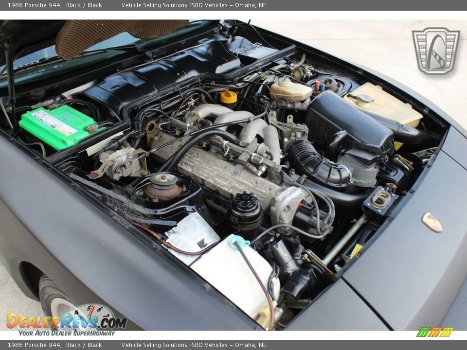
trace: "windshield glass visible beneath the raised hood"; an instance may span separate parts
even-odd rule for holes
[[[68,61],[62,61],[58,58],[57,61],[54,61],[53,63],[47,65],[40,65],[40,67],[33,68],[32,66],[35,66],[37,63],[43,60],[47,60],[48,58],[53,58],[57,56],[57,53],[55,52],[55,45],[52,45],[50,47],[38,50],[34,53],[29,53],[25,56],[19,57],[13,62],[14,70],[23,68],[26,69],[28,66],[31,66],[31,69],[19,71],[15,74],[15,84],[18,85],[26,82],[31,82],[36,79],[42,79],[57,74],[59,72],[63,72],[65,70],[77,69],[79,67],[83,67],[92,63],[98,63],[104,59],[125,53],[125,51],[111,50],[111,48],[114,47],[126,46],[131,44],[138,44],[140,47],[150,47],[151,44],[163,42],[173,38],[174,36],[191,32],[211,22],[212,21],[208,20],[190,21],[190,23],[188,23],[185,27],[179,28],[175,32],[166,35],[161,35],[153,39],[139,39],[130,35],[129,33],[121,33],[107,40],[101,41],[100,43],[91,46],[85,51],[85,53],[87,53],[97,50],[98,52],[95,55],[91,55],[89,57],[78,56]],[[108,52],[99,52],[99,50],[106,49],[110,50]],[[0,66],[0,71],[0,88],[4,88],[7,85],[5,65]]]

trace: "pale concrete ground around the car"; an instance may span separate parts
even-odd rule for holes
[[[311,17],[311,15],[310,15]],[[253,24],[279,32],[346,60],[380,71],[432,100],[467,128],[467,21],[421,20],[253,20]],[[433,76],[417,68],[412,31],[426,27],[460,30],[456,64],[447,75]],[[456,307],[467,315],[467,295]],[[0,265],[0,330],[7,330],[6,315],[42,315],[38,302],[25,297]],[[464,319],[446,319],[446,326],[464,324]],[[455,326],[454,326],[455,327]],[[455,329],[459,329],[455,327]]]

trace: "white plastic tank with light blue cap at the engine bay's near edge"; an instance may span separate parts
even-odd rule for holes
[[[268,300],[240,252],[229,243],[232,236],[226,237],[190,267],[251,318],[255,318],[261,309],[268,307]],[[251,247],[242,249],[267,287],[272,273],[271,265]],[[277,278],[272,279],[272,283],[277,300],[281,286]]]

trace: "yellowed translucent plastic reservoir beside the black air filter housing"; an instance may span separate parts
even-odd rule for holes
[[[351,95],[354,97],[347,95],[344,100],[357,108],[379,114],[407,126],[417,127],[420,119],[423,118],[411,105],[403,103],[380,86],[372,83],[363,84],[352,91]]]

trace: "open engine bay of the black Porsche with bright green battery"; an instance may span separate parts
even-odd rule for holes
[[[376,238],[447,125],[243,29],[31,99],[17,140],[281,330]]]

